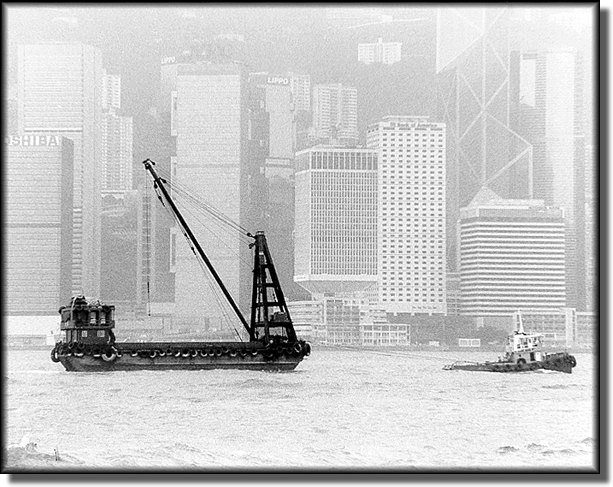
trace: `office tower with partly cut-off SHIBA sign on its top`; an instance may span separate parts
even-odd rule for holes
[[[72,291],[73,143],[49,133],[5,138],[6,312],[55,315]]]

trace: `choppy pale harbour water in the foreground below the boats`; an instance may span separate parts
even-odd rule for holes
[[[575,356],[572,375],[442,370],[495,353],[331,350],[285,373],[69,373],[11,351],[6,466],[587,471],[595,357]]]

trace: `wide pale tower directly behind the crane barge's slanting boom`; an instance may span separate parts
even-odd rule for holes
[[[247,195],[245,76],[237,65],[179,64],[176,69],[171,133],[176,135],[177,150],[171,161],[172,181],[240,224]],[[185,199],[177,204],[234,300],[248,309],[252,263],[244,236],[195,213],[197,209],[187,206]],[[222,308],[215,306],[219,290],[209,276],[194,271],[194,254],[183,235],[178,233],[174,239],[175,316],[194,325],[206,325],[209,319],[218,328],[222,321]]]

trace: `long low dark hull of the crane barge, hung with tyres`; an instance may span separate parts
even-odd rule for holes
[[[106,347],[56,346],[51,359],[70,372],[243,369],[289,371],[310,354],[306,342],[286,347],[234,343],[121,343]]]

